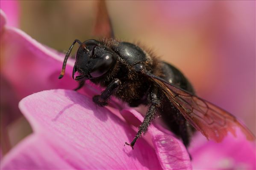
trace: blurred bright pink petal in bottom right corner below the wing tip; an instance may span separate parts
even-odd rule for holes
[[[255,144],[247,141],[239,129],[235,138],[229,134],[221,143],[207,141],[197,134],[191,143],[190,153],[194,169],[255,170]]]

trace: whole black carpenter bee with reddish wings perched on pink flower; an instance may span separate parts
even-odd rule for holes
[[[147,132],[156,115],[160,115],[167,127],[180,137],[186,147],[195,130],[206,138],[220,142],[234,127],[239,127],[248,140],[254,135],[233,115],[206,101],[194,92],[191,83],[174,66],[159,60],[146,48],[133,43],[116,40],[104,1],[98,1],[95,24],[97,35],[103,40],[74,40],[62,66],[59,78],[65,73],[65,66],[75,43],[79,44],[72,77],[79,81],[80,89],[85,80],[99,84],[106,89],[95,95],[93,101],[106,106],[110,96],[115,96],[131,107],[147,105],[144,120],[138,133],[130,143]],[[79,75],[74,76],[75,73]],[[77,90],[76,89],[76,90]]]

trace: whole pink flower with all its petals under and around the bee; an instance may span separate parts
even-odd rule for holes
[[[109,107],[95,106],[91,96],[99,93],[97,87],[85,87],[83,95],[65,90],[77,85],[71,80],[74,61],[69,61],[65,78],[58,80],[63,54],[19,29],[2,26],[2,21],[1,12],[1,74],[19,98],[37,93],[19,104],[33,133],[3,157],[1,169],[256,168],[255,146],[240,133],[238,138],[229,135],[221,144],[198,134],[190,148],[192,162],[182,142],[156,124],[134,150],[124,146],[134,137],[141,114],[115,99]]]

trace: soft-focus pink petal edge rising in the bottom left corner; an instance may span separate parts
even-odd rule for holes
[[[28,152],[28,148],[31,152]],[[15,150],[11,150],[8,156],[4,157],[1,169],[74,169],[65,161],[65,158],[58,155],[55,149],[52,143],[42,138],[41,135],[30,135],[21,141]],[[40,156],[40,158],[35,158],[35,156]]]

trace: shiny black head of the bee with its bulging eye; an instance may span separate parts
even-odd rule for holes
[[[73,69],[73,78],[79,73],[76,81],[99,78],[115,64],[113,52],[97,40],[87,40],[77,51],[76,62]]]

